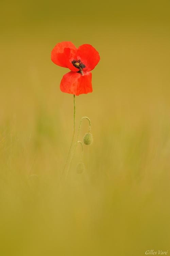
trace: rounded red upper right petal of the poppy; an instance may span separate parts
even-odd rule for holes
[[[99,62],[100,56],[92,45],[83,44],[78,48],[77,59],[80,59],[85,65],[84,71],[91,71]]]

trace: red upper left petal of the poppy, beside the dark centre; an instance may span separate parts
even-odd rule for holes
[[[72,71],[79,71],[71,61],[76,58],[77,48],[71,42],[62,42],[54,46],[51,52],[51,60],[58,66],[69,68]]]

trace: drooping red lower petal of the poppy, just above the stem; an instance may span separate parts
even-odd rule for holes
[[[60,89],[63,93],[69,94],[87,94],[92,92],[91,72],[84,72],[84,76],[78,72],[66,73],[60,83]]]

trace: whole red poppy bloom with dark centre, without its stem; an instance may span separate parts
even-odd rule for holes
[[[76,48],[71,42],[55,45],[51,52],[51,60],[58,66],[69,68],[60,83],[63,93],[75,95],[92,92],[91,70],[100,60],[99,53],[90,44],[83,44]]]

